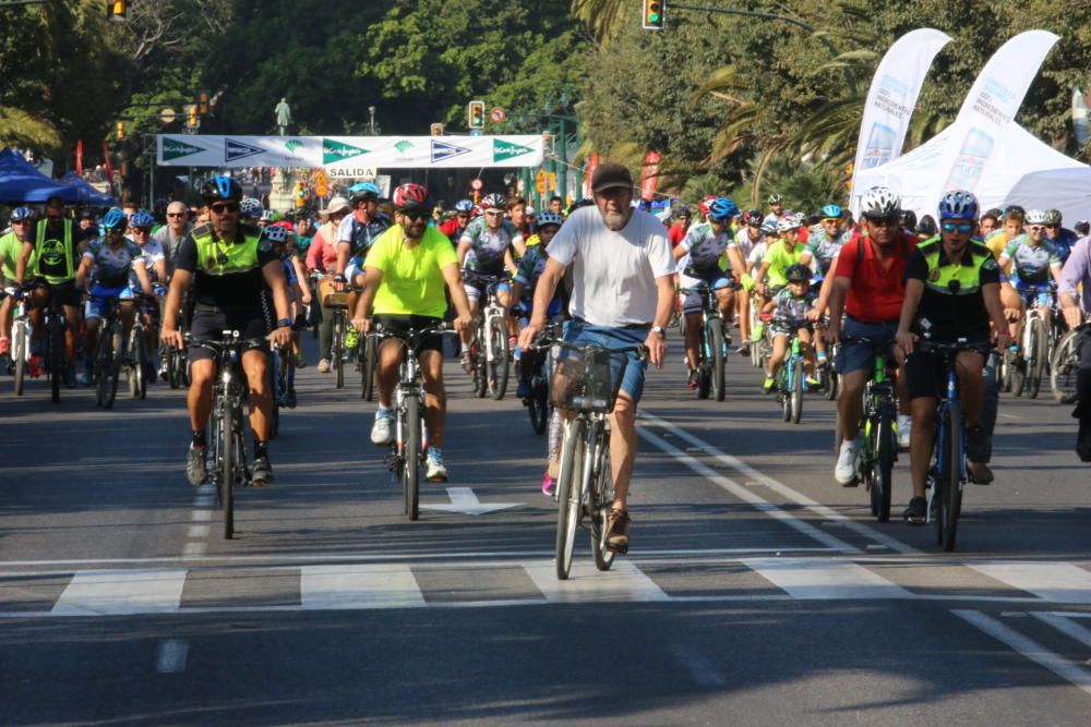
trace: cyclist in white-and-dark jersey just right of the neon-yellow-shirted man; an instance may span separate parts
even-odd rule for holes
[[[458,264],[475,272],[489,276],[503,275],[505,268],[515,272],[515,253],[520,256],[527,252],[523,233],[512,222],[504,219],[504,197],[489,194],[481,201],[483,217],[470,222],[458,240]],[[485,283],[465,281],[466,296],[469,300],[470,313],[478,315],[481,310],[481,299],[485,294]],[[505,308],[512,305],[511,289],[504,283],[496,291],[500,304]],[[485,301],[487,302],[487,301]],[[461,331],[461,354],[459,361],[467,373],[470,371],[470,342],[473,329],[467,326]],[[514,347],[512,347],[514,348]]]

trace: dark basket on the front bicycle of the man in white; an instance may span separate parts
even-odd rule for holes
[[[625,378],[628,354],[578,352],[562,347],[553,374],[553,405],[560,409],[610,413]]]

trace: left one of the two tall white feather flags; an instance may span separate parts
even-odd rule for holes
[[[920,28],[898,38],[883,57],[864,102],[853,182],[861,171],[885,165],[901,155],[924,77],[936,53],[948,43],[950,36],[947,34]],[[855,184],[852,189],[856,190]]]

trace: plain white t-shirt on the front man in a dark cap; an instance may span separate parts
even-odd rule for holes
[[[561,226],[547,252],[572,266],[570,312],[595,326],[650,324],[656,278],[675,270],[663,223],[639,209],[623,230],[613,232],[598,207],[582,207]]]

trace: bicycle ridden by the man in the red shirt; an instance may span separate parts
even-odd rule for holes
[[[889,341],[847,337],[847,341],[872,347],[874,371],[864,388],[864,410],[860,431],[863,432],[856,480],[863,482],[871,496],[872,514],[879,522],[890,520],[890,493],[894,463],[898,461],[898,399],[895,393],[897,362]],[[838,425],[840,429],[840,425]],[[840,449],[840,433],[838,436]]]

